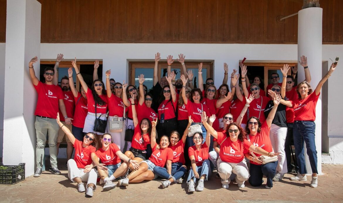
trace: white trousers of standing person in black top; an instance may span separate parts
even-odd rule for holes
[[[270,141],[274,152],[280,152],[277,155],[277,167],[276,170],[279,173],[287,173],[287,162],[286,162],[286,153],[285,153],[285,140],[287,136],[287,127],[280,127],[275,124],[270,126]]]

